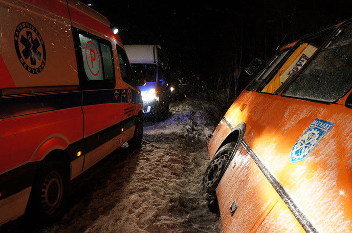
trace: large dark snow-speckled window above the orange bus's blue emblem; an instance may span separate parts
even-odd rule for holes
[[[335,37],[283,91],[283,96],[333,103],[352,87],[352,24]]]

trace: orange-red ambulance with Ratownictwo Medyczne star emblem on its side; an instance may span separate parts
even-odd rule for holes
[[[0,0],[0,224],[54,220],[67,184],[128,142],[139,85],[111,23],[78,0]]]

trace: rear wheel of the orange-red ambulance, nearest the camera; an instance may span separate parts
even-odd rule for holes
[[[30,218],[51,223],[63,212],[68,189],[68,171],[60,161],[44,162],[32,186],[26,212]]]

